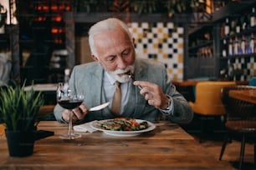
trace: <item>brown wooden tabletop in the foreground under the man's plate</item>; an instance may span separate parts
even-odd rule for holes
[[[55,134],[38,140],[27,158],[10,158],[6,138],[0,138],[0,169],[233,169],[212,158],[172,122],[156,122],[155,130],[136,137],[95,132],[82,133],[82,138],[73,141],[59,138],[67,131],[59,122],[40,122],[38,129]]]

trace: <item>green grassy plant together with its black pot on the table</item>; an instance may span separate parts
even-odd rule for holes
[[[38,111],[44,105],[41,92],[23,86],[5,86],[0,92],[0,117],[5,126],[9,155],[24,157],[33,153]]]

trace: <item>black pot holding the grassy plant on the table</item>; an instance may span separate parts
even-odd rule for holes
[[[34,132],[5,131],[10,157],[27,157],[33,153]]]

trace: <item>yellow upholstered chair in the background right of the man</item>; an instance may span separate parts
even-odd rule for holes
[[[200,117],[200,133],[206,132],[207,120],[212,120],[214,117],[221,117],[226,114],[221,99],[221,89],[232,85],[236,85],[236,83],[219,81],[197,82],[195,102],[189,102],[189,105],[192,107],[194,114]],[[200,142],[202,142],[201,139]]]

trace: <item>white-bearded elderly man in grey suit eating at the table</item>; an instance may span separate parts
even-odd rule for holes
[[[136,56],[134,38],[125,23],[117,18],[95,23],[89,42],[95,62],[75,66],[69,79],[70,90],[84,95],[83,104],[73,109],[73,122],[114,117],[154,121],[159,114],[177,123],[192,121],[192,108],[168,79],[164,64]],[[115,82],[120,82],[121,93],[117,107],[112,103]],[[89,111],[103,102],[110,102],[109,107]],[[59,104],[54,115],[59,122],[69,122],[68,110]]]

